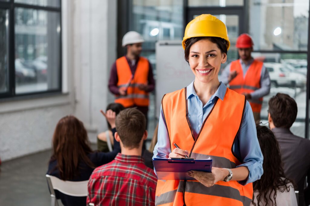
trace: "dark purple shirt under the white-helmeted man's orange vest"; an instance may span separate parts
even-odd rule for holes
[[[137,69],[137,64],[138,64],[138,61],[139,61],[139,57],[133,63],[127,57],[126,57],[126,60],[127,60],[128,65],[130,67],[131,73],[133,75],[135,75],[135,71]],[[150,62],[148,62],[148,65],[149,65],[149,69],[148,69],[148,90],[147,90],[147,92],[151,92],[155,88],[155,81],[154,81],[154,78],[153,78],[153,68],[152,68],[152,65],[150,64]],[[116,62],[114,62],[113,65],[111,66],[111,73],[110,73],[109,84],[108,84],[109,90],[114,95],[119,95],[117,82],[118,82],[118,77],[117,77]],[[140,106],[140,107],[137,107],[137,108],[142,113],[144,113],[144,114],[146,114],[147,111],[148,111],[148,107],[141,107]]]

